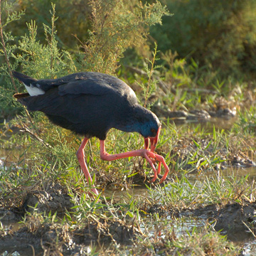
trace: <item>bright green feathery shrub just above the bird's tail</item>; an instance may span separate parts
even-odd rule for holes
[[[76,68],[70,53],[58,48],[57,31],[55,30],[55,5],[50,11],[51,25],[43,24],[46,45],[37,39],[36,22],[27,23],[28,35],[21,36],[18,41],[20,54],[16,55],[16,62],[20,63],[23,72],[33,78],[57,78],[67,73],[74,73]]]

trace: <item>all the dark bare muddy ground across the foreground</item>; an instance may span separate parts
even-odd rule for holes
[[[103,203],[103,202],[102,202]],[[13,250],[36,250],[45,255],[82,255],[87,253],[87,245],[116,244],[129,245],[135,242],[138,236],[144,234],[135,221],[125,221],[119,218],[102,218],[98,215],[90,214],[90,218],[82,228],[70,228],[68,225],[60,223],[43,223],[38,215],[33,214],[33,208],[37,205],[36,212],[48,214],[50,211],[57,211],[63,216],[65,210],[72,212],[73,203],[70,196],[65,193],[59,184],[49,186],[47,191],[31,191],[27,194],[21,208],[0,209],[0,218],[3,223],[9,223],[9,228],[0,230],[0,253],[6,248]],[[31,208],[32,206],[32,208]],[[11,223],[22,220],[27,212],[26,225],[14,230]],[[230,240],[245,239],[251,236],[248,227],[252,231],[256,230],[256,203],[243,201],[240,203],[227,203],[225,205],[214,204],[202,206],[196,209],[183,208],[176,210],[160,205],[144,205],[144,213],[159,213],[161,217],[203,217],[206,222],[211,223],[213,228],[225,235]],[[58,240],[58,244],[56,244]],[[15,247],[14,247],[15,245]],[[33,249],[32,249],[33,248]],[[46,254],[46,252],[48,254]],[[52,254],[52,252],[54,252]],[[59,252],[59,254],[56,254]],[[31,254],[32,255],[32,254]],[[39,254],[40,255],[40,254]]]

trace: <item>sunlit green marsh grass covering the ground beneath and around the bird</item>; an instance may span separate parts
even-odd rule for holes
[[[169,174],[172,180],[164,186],[151,186],[146,183],[146,196],[139,197],[132,196],[129,176],[134,173],[138,176],[139,172],[150,176],[152,170],[146,161],[140,158],[121,159],[110,163],[102,161],[99,140],[92,139],[85,152],[90,171],[97,174],[96,186],[105,188],[106,176],[110,187],[112,183],[117,183],[118,186],[112,188],[128,188],[127,196],[119,201],[115,199],[114,193],[112,197],[105,199],[104,191],[101,201],[94,201],[85,193],[90,191],[90,186],[79,171],[75,156],[80,137],[53,126],[46,119],[41,122],[36,117],[34,122],[35,126],[29,126],[30,132],[36,134],[40,131],[43,142],[27,133],[13,134],[6,141],[3,137],[3,147],[15,149],[18,146],[21,153],[16,156],[15,164],[6,166],[6,170],[1,171],[1,204],[4,208],[19,208],[29,191],[43,190],[48,183],[60,183],[75,206],[69,212],[66,211],[64,218],[54,213],[28,213],[23,220],[24,225],[40,230],[42,225],[47,224],[60,231],[65,224],[71,234],[73,230],[82,230],[88,222],[95,223],[97,220],[106,221],[110,227],[116,222],[121,222],[122,225],[134,223],[134,227],[143,233],[138,233],[137,242],[134,242],[136,252],[146,250],[151,255],[191,255],[203,252],[212,255],[236,255],[241,249],[220,233],[216,233],[206,220],[195,224],[191,230],[189,223],[193,223],[193,218],[177,218],[171,213],[212,204],[242,205],[246,198],[254,200],[255,186],[250,177],[236,177],[232,173],[226,175],[216,167],[223,163],[220,156],[225,156],[226,163],[242,150],[254,150],[252,131],[247,132],[241,125],[236,125],[230,131],[215,128],[207,131],[201,124],[196,127],[176,127],[171,122],[166,122],[156,151],[165,156],[172,171]],[[239,122],[244,122],[244,119],[238,120],[238,124]],[[6,134],[5,129],[9,129],[9,126],[1,128],[3,134]],[[137,149],[138,145],[143,146],[143,138],[138,134],[125,134],[113,129],[107,137],[106,148],[110,154],[114,154]],[[161,211],[149,213],[151,206],[158,206]],[[165,214],[160,214],[162,211]],[[36,223],[36,226],[31,225],[31,222]],[[60,237],[61,234],[60,232]],[[59,246],[62,244],[56,240],[55,247]],[[90,248],[92,255],[107,255],[107,252],[120,255],[135,253],[129,245],[117,247],[114,241],[110,241],[110,245],[104,250],[94,245]],[[132,252],[128,253],[127,250]]]

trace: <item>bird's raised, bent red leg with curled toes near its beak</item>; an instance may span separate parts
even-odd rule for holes
[[[156,180],[157,175],[161,171],[161,164],[163,164],[164,169],[166,171],[164,173],[164,176],[161,178],[160,183],[166,179],[166,176],[169,173],[169,167],[167,166],[166,162],[164,161],[163,156],[160,156],[152,151],[149,151],[148,149],[138,149],[138,150],[134,150],[134,151],[111,155],[105,151],[105,142],[103,140],[100,141],[100,157],[102,158],[102,160],[113,161],[113,160],[117,160],[117,159],[127,158],[129,156],[143,156],[146,158],[146,160],[149,162],[149,164],[151,165],[151,167],[154,171],[154,178],[152,178],[151,182],[154,182]],[[156,171],[156,167],[154,166],[154,164],[150,158],[156,159],[156,161],[159,161],[159,167],[158,167],[157,171]]]

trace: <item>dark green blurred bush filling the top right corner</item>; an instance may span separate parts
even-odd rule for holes
[[[193,57],[223,75],[255,71],[256,1],[161,1],[174,16],[151,27],[159,50]]]

